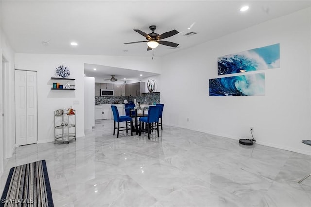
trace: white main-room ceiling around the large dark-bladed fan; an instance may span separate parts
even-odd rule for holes
[[[249,10],[240,12],[243,5]],[[16,53],[152,57],[153,52],[165,56],[310,5],[310,0],[0,0],[0,25]],[[157,26],[158,34],[176,29],[180,33],[165,41],[179,46],[147,51],[146,43],[124,44],[145,40],[133,29],[150,33],[150,25]],[[185,36],[189,32],[197,34]],[[71,46],[72,41],[78,45]]]

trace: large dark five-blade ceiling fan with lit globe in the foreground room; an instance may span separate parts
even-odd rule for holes
[[[171,47],[177,47],[179,44],[173,43],[173,42],[168,42],[168,41],[162,41],[161,39],[165,39],[168,37],[171,37],[175,34],[178,34],[179,32],[177,30],[171,30],[169,32],[165,32],[163,34],[157,34],[155,33],[155,25],[151,25],[149,29],[152,31],[150,34],[146,34],[145,32],[142,32],[141,30],[134,30],[135,32],[138,32],[142,36],[146,37],[148,41],[138,41],[138,42],[128,42],[124,44],[133,44],[133,43],[140,43],[140,42],[146,42],[148,45],[147,51],[152,50],[153,48],[156,48],[159,44],[166,45],[166,46],[171,46]]]

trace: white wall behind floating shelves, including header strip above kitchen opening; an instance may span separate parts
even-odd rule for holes
[[[159,72],[160,61],[149,57],[15,54],[15,68],[37,71],[38,143],[54,140],[53,111],[72,106],[76,110],[77,137],[84,136],[84,64],[99,64],[148,72]],[[55,69],[64,65],[75,80],[75,91],[51,90]]]

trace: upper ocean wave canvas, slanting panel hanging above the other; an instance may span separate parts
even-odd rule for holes
[[[280,44],[251,49],[218,58],[218,75],[280,67]]]

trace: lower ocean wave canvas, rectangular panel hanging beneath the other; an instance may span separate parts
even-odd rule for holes
[[[209,96],[264,96],[265,74],[209,79]]]

